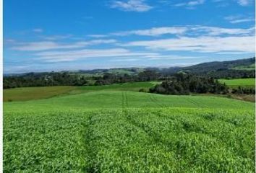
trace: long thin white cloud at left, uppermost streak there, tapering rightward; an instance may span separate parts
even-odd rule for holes
[[[53,50],[53,49],[71,49],[71,48],[83,48],[88,45],[98,45],[106,43],[115,43],[116,40],[90,40],[88,42],[77,42],[69,44],[60,44],[52,41],[23,43],[12,47],[12,50],[22,51],[38,51],[38,50]]]

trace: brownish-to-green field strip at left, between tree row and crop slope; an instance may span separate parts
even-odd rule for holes
[[[44,86],[4,89],[4,102],[46,99],[60,94],[80,94],[84,92],[95,92],[101,90],[138,92],[140,89],[145,89],[148,91],[150,87],[158,83],[159,82],[157,81],[152,81],[111,84],[104,86]]]

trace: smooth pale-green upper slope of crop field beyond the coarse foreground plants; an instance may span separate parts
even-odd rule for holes
[[[125,94],[125,96],[124,96]],[[98,108],[121,108],[123,97],[128,97],[129,107],[205,107],[222,109],[252,109],[253,103],[235,99],[205,96],[175,96],[142,92],[101,91],[72,94],[64,97],[40,99],[27,102],[8,102],[8,110],[88,110]]]

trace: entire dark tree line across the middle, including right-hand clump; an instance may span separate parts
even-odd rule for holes
[[[93,81],[93,83],[90,81]],[[195,75],[189,72],[164,75],[152,69],[142,71],[136,75],[104,73],[103,76],[82,76],[81,74],[69,74],[68,72],[51,72],[42,74],[30,73],[23,76],[5,76],[4,89],[26,86],[98,86],[137,81],[163,81],[162,84],[158,84],[150,89],[150,92],[158,94],[226,94],[228,92],[233,94],[255,94],[255,89],[248,89],[242,86],[237,89],[229,89],[226,84],[221,84],[213,76]]]

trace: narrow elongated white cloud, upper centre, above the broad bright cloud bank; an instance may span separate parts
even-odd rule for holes
[[[147,36],[158,36],[165,34],[179,35],[187,31],[187,27],[153,27],[149,30],[132,30],[124,32],[115,32],[112,35],[147,35]]]

